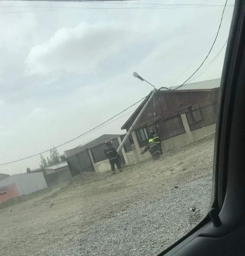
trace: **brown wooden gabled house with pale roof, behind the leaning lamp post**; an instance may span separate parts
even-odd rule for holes
[[[134,127],[138,144],[148,144],[150,129],[160,135],[161,140],[186,133],[183,114],[192,132],[216,122],[220,78],[183,85],[171,90],[160,89],[150,101]],[[178,89],[177,89],[178,88]],[[121,129],[130,128],[151,93],[145,98]],[[154,114],[155,113],[155,114]]]

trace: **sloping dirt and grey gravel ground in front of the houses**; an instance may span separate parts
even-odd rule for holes
[[[204,217],[213,143],[207,136],[115,176],[80,174],[0,210],[0,255],[157,255]]]

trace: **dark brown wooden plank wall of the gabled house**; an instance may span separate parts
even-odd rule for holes
[[[185,132],[180,118],[186,114],[191,130],[199,129],[216,122],[219,90],[214,91],[187,91],[187,92],[158,92],[155,95],[155,120],[157,130],[162,133],[162,139],[176,136]],[[193,121],[191,107],[198,104],[202,120]],[[140,112],[140,110],[138,110]],[[133,123],[138,113],[135,113],[127,124],[127,130]],[[143,112],[140,122],[135,129],[147,127],[154,128],[154,100],[152,99],[147,109]],[[174,119],[175,118],[175,119]]]

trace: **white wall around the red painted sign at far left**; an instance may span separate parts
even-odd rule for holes
[[[19,195],[28,195],[47,187],[46,180],[42,172],[22,173],[12,175],[0,181],[0,187],[14,183]]]

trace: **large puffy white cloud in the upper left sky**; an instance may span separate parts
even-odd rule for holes
[[[62,28],[41,45],[34,46],[26,59],[27,75],[61,72],[91,72],[125,42],[127,30],[120,23],[80,23]]]

